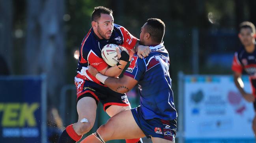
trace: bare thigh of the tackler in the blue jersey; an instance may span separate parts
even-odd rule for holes
[[[145,137],[145,134],[135,122],[131,110],[125,110],[111,117],[97,131],[105,141]]]

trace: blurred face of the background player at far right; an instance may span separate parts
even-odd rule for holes
[[[242,28],[239,33],[239,39],[244,46],[252,45],[255,40],[250,28]]]

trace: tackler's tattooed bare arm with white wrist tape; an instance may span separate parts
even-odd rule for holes
[[[125,93],[130,91],[138,83],[137,80],[126,75],[124,75],[122,78],[112,78],[104,76],[92,66],[89,66],[89,72],[99,81],[107,85],[110,89],[119,93]]]

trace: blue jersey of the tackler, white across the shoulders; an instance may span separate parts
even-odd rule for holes
[[[145,119],[172,120],[177,118],[177,111],[171,89],[169,54],[163,43],[150,49],[146,58],[138,58],[135,54],[124,75],[138,81],[140,106]]]

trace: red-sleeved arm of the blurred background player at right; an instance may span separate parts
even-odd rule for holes
[[[253,94],[248,94],[244,90],[243,80],[241,79],[243,66],[238,60],[237,52],[234,55],[233,63],[232,63],[232,70],[234,71],[234,83],[239,92],[242,94],[243,98],[248,102],[254,102],[255,98]]]

